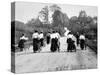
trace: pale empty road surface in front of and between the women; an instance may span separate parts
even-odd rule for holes
[[[60,39],[61,52],[50,52],[50,45],[42,48],[40,53],[33,53],[32,47],[23,52],[15,54],[16,73],[62,71],[78,69],[97,68],[96,54],[87,47],[81,50],[77,47],[77,52],[66,52],[66,38]]]

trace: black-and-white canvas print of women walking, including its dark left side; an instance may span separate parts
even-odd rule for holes
[[[98,67],[98,7],[11,3],[11,72]]]

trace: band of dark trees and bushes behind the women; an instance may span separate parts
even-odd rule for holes
[[[25,33],[29,37],[29,40],[32,40],[31,35],[34,30],[38,30],[39,32],[43,31],[44,34],[48,31],[56,30],[63,35],[64,27],[67,27],[74,33],[85,33],[86,37],[89,39],[97,39],[97,16],[87,16],[85,11],[80,11],[78,17],[72,16],[71,18],[68,18],[67,14],[63,13],[59,6],[52,5],[50,6],[50,9],[54,11],[54,14],[52,15],[52,24],[49,24],[48,22],[44,24],[38,17],[36,19],[32,18],[26,24],[19,21],[12,22],[11,27],[15,24],[16,40],[19,39],[22,33]],[[48,21],[48,12],[48,6],[45,6],[39,13],[45,14],[46,20]]]

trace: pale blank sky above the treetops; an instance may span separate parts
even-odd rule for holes
[[[15,2],[15,20],[27,23],[32,18],[37,18],[39,11],[45,6],[51,6],[48,3],[34,3],[34,2]],[[98,16],[98,8],[96,6],[81,6],[57,4],[63,13],[66,13],[70,18],[78,16],[81,10],[85,10],[87,16]]]

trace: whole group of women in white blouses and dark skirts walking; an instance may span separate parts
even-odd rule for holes
[[[72,52],[72,51],[76,51],[76,47],[78,45],[80,45],[80,48],[82,50],[84,50],[85,48],[85,36],[83,34],[76,34],[74,36],[74,34],[70,31],[66,31],[66,43],[67,43],[67,51],[68,52]],[[33,52],[39,52],[41,51],[42,47],[44,46],[44,34],[43,32],[38,33],[38,31],[34,31],[34,33],[32,34],[32,39],[33,39]],[[25,35],[20,37],[20,41],[19,41],[19,48],[21,49],[21,51],[23,51],[24,48],[24,43],[25,41],[28,40],[27,37],[25,37]],[[50,45],[50,50],[51,52],[56,52],[56,51],[60,51],[60,34],[57,31],[52,31],[52,32],[48,32],[46,34],[46,43],[47,44],[51,44]]]

